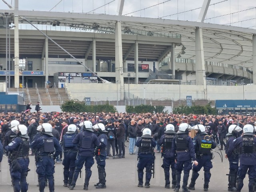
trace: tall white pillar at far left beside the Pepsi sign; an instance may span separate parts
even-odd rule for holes
[[[16,8],[16,1],[15,1]],[[14,16],[14,87],[18,88],[20,83],[19,77],[19,18],[18,15]],[[6,68],[7,69],[7,68]]]

